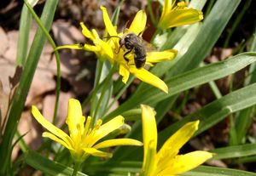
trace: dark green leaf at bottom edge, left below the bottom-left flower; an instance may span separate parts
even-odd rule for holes
[[[26,152],[24,160],[26,164],[49,175],[70,176],[73,173],[73,168],[53,162],[44,156],[40,156],[37,152],[32,150]],[[77,175],[86,176],[84,173],[78,173]]]

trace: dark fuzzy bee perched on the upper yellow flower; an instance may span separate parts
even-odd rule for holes
[[[125,34],[123,37],[118,36],[109,36],[109,37],[118,37],[119,38],[119,50],[120,48],[125,47],[128,51],[124,54],[124,59],[129,62],[127,55],[133,52],[134,54],[134,63],[137,69],[142,68],[146,63],[146,48],[143,43],[143,38],[137,36],[135,33],[130,32]],[[118,51],[119,53],[119,51]]]

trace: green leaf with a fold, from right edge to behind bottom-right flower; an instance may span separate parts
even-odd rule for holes
[[[221,99],[205,105],[201,110],[183,117],[179,122],[174,123],[159,133],[159,145],[161,146],[172,133],[176,132],[186,122],[200,120],[200,125],[196,134],[211,128],[213,125],[222,121],[226,116],[236,111],[241,111],[249,106],[256,104],[256,83],[245,88],[240,88]]]

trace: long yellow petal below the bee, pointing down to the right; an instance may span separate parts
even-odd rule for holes
[[[143,82],[147,82],[156,88],[160,88],[166,94],[168,93],[168,87],[165,82],[163,82],[159,77],[154,76],[151,72],[142,69],[131,68],[131,73],[137,77],[138,79],[142,80]]]

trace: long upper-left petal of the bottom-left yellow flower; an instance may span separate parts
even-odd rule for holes
[[[32,105],[32,115],[35,117],[35,119],[44,127],[46,128],[50,133],[53,133],[58,138],[65,141],[66,144],[72,145],[72,140],[69,138],[67,133],[63,132],[61,129],[56,128],[53,124],[48,122],[44,116],[38,111],[38,108],[34,105]]]

